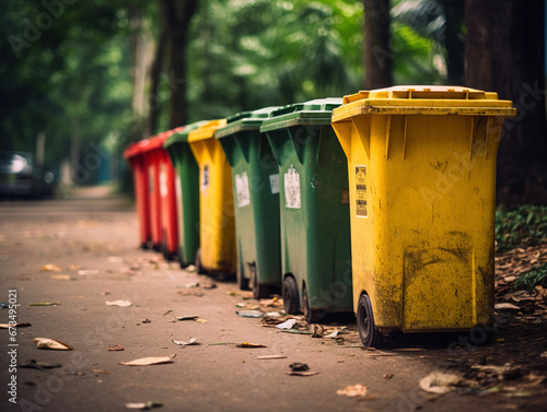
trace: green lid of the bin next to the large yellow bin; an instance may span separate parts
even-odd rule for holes
[[[341,97],[328,97],[283,106],[270,114],[270,118],[263,122],[260,131],[266,132],[292,126],[330,125],[333,109],[341,104]]]

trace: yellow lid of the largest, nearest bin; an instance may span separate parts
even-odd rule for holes
[[[511,101],[498,93],[461,86],[393,86],[344,96],[333,122],[359,115],[516,116]]]

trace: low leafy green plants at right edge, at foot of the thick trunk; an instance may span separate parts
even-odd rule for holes
[[[496,212],[496,247],[503,252],[547,240],[547,207],[522,205]]]

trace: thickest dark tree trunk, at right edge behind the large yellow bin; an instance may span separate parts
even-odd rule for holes
[[[466,0],[466,83],[513,101],[498,152],[498,201],[547,203],[544,1]]]

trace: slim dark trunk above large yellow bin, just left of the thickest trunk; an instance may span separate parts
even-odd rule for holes
[[[465,75],[465,1],[442,0],[446,26],[444,31],[444,46],[446,48],[446,69],[449,84],[462,85]]]

